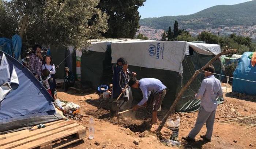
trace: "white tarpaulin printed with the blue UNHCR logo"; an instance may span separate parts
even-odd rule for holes
[[[124,57],[129,65],[182,73],[187,41],[148,41],[112,43],[112,63]]]

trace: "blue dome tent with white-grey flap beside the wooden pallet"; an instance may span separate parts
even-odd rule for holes
[[[34,75],[0,51],[0,132],[56,121],[62,117]]]

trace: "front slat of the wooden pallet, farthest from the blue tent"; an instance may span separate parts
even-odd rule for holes
[[[75,134],[75,133],[78,133],[80,131],[84,131],[84,130],[86,130],[86,128],[84,126],[79,125],[79,126],[76,126],[75,128],[72,128],[72,129],[69,129],[69,130],[64,130],[64,131],[61,131],[59,133],[52,134],[48,137],[44,137],[44,138],[41,138],[41,139],[34,139],[35,141],[28,142],[28,143],[20,145],[20,146],[16,146],[13,149],[33,149],[33,148],[36,148],[37,146],[45,144],[45,142],[52,142],[52,141],[58,140],[60,138],[67,137],[71,134]]]

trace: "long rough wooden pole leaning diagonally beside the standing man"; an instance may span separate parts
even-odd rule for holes
[[[158,126],[157,128],[157,136],[160,136],[160,131],[163,128],[163,125],[165,125],[165,122],[167,120],[167,118],[170,116],[170,114],[172,114],[175,106],[177,105],[178,101],[180,100],[182,94],[185,92],[185,90],[188,88],[188,86],[192,83],[192,81],[196,78],[196,76],[202,72],[204,69],[206,69],[206,67],[208,67],[210,64],[212,64],[215,60],[217,60],[221,55],[225,55],[227,53],[230,52],[235,52],[236,49],[224,49],[221,53],[217,54],[215,57],[213,57],[206,65],[204,65],[204,67],[202,67],[201,69],[197,70],[194,75],[188,80],[187,84],[185,86],[183,86],[180,90],[180,92],[178,93],[176,99],[174,100],[172,106],[170,107],[169,111],[167,112],[167,114],[165,115],[165,117],[163,117],[163,120],[161,122],[161,124]]]

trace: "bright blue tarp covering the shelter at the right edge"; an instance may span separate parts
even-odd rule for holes
[[[251,59],[248,56],[252,52],[245,52],[238,60],[238,65],[233,77],[245,80],[256,81],[256,67],[252,67]],[[232,91],[256,95],[256,82],[233,79]]]

